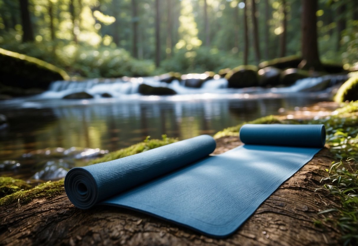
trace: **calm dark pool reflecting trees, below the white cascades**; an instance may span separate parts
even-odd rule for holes
[[[47,147],[117,150],[145,139],[186,139],[318,101],[314,98],[257,100],[120,101],[62,105],[51,109],[2,109],[9,128],[0,134],[0,160]]]

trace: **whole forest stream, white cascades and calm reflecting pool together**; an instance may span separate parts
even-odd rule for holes
[[[178,94],[142,96],[137,93],[137,87],[143,82],[170,87]],[[303,83],[304,88],[312,85],[312,81]],[[291,110],[330,98],[329,91],[300,92],[298,87],[299,84],[275,89],[230,89],[224,79],[209,80],[199,89],[184,87],[179,81],[166,84],[153,78],[57,81],[41,95],[1,101],[0,114],[8,118],[8,127],[0,130],[0,174],[26,178],[34,175],[38,170],[29,166],[40,160],[24,160],[26,153],[34,150],[92,148],[79,152],[84,155],[86,151],[99,153],[97,148],[118,150],[147,136],[161,138],[167,134],[186,139],[200,134],[213,135],[248,120],[279,114],[280,108]],[[61,99],[78,91],[86,91],[95,98]],[[103,93],[112,97],[103,98]],[[42,153],[46,156],[48,152]],[[12,161],[8,168],[10,162],[6,160]],[[66,165],[61,167],[72,166]]]

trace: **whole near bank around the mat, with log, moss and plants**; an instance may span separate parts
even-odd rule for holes
[[[282,116],[263,117],[251,122],[323,123],[328,134],[326,148],[282,184],[228,239],[214,240],[129,210],[118,211],[107,207],[97,207],[90,211],[76,209],[64,193],[63,180],[45,183],[29,191],[18,191],[0,199],[0,213],[4,214],[0,238],[4,239],[4,244],[9,245],[56,242],[70,245],[92,242],[97,245],[337,245],[342,242],[339,239],[342,235],[345,235],[345,240],[354,240],[357,235],[354,223],[357,221],[348,221],[352,230],[347,231],[347,228],[340,226],[340,211],[343,211],[343,206],[339,197],[329,195],[330,191],[334,191],[333,186],[338,187],[339,184],[335,184],[337,180],[330,180],[329,177],[335,175],[334,171],[338,171],[331,169],[332,162],[357,156],[354,147],[357,147],[358,142],[355,129],[358,125],[358,102],[338,107],[333,103],[321,103],[313,108],[298,108],[294,112],[285,112]],[[214,153],[222,153],[240,145],[239,129],[240,125],[217,133],[217,148]],[[108,160],[131,155],[171,141],[176,139],[153,139],[110,153],[106,158]],[[103,159],[97,160],[100,161]],[[354,161],[343,161],[343,165],[347,164],[350,164],[349,171],[354,174],[357,165]],[[356,192],[354,186],[348,193],[352,192]],[[351,197],[354,199],[354,196]],[[329,209],[334,213],[322,213]],[[354,217],[354,209],[352,211]],[[354,242],[351,241],[352,244]]]

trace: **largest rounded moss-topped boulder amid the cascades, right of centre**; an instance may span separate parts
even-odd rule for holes
[[[225,76],[230,88],[258,86],[257,67],[242,65],[235,67]]]

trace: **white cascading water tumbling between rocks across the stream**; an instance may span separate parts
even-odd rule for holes
[[[63,98],[73,93],[87,93],[94,98],[113,97],[123,98],[126,95],[139,95],[138,87],[146,84],[152,87],[166,87],[179,95],[190,94],[255,94],[255,93],[295,93],[299,91],[323,91],[347,79],[347,75],[325,75],[300,79],[287,87],[243,89],[228,88],[228,81],[224,78],[202,80],[199,86],[188,87],[185,81],[173,80],[170,83],[159,81],[157,77],[87,79],[83,81],[54,81],[49,90],[41,95],[42,98]]]

